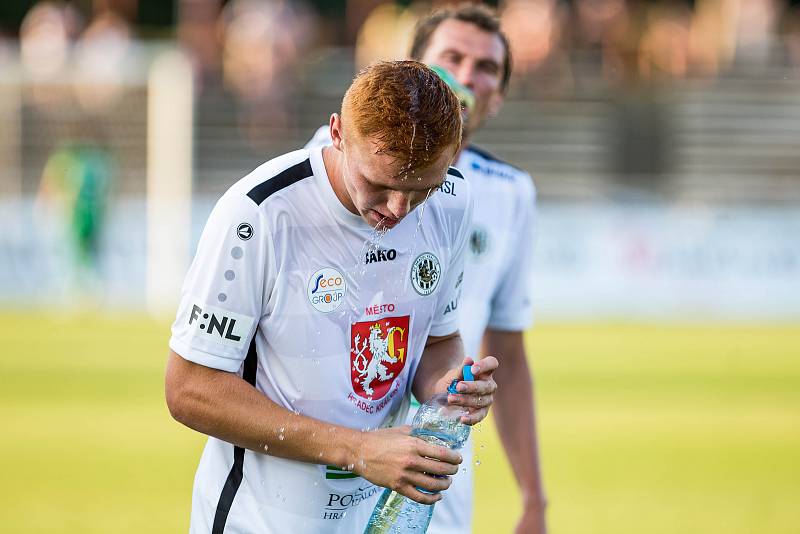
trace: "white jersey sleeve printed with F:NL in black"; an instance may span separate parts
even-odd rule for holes
[[[255,203],[231,191],[212,210],[172,325],[169,346],[184,359],[236,372],[247,356],[275,271],[262,219]]]

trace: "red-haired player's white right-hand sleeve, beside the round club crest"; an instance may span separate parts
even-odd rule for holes
[[[430,335],[446,336],[458,330],[458,304],[464,281],[464,261],[469,241],[469,230],[472,228],[473,198],[467,182],[462,189],[467,194],[466,206],[463,210],[461,225],[453,234],[453,254],[444,272],[441,293],[437,301],[436,314],[431,325]]]

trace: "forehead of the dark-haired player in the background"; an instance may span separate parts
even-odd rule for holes
[[[433,31],[422,54],[423,63],[432,63],[448,51],[455,51],[477,60],[491,60],[502,65],[505,57],[503,40],[494,32],[458,19],[443,20]]]

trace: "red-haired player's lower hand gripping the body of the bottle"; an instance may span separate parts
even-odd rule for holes
[[[363,433],[353,472],[419,503],[433,504],[442,498],[438,492],[450,487],[449,475],[458,472],[461,455],[412,437],[410,431],[402,426]]]

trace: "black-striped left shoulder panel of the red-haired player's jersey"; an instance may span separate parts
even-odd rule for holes
[[[263,206],[273,195],[314,176],[308,150],[295,150],[267,161],[236,182],[226,193]]]

